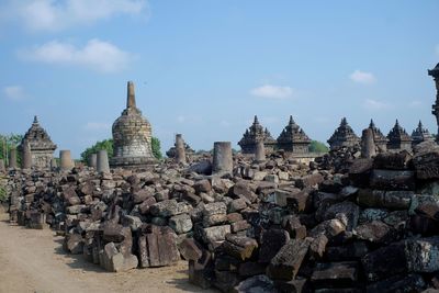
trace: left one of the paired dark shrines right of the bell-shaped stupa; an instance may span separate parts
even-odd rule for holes
[[[259,123],[258,116],[255,115],[254,124],[246,129],[243,138],[239,140],[243,154],[255,154],[258,142],[263,142],[267,151],[274,150],[277,146],[275,139],[270,132]]]

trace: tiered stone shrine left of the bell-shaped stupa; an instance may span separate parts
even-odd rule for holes
[[[49,168],[57,146],[40,125],[37,116],[34,117],[31,128],[29,128],[19,146],[22,151],[24,142],[27,142],[31,147],[32,166],[35,168]]]

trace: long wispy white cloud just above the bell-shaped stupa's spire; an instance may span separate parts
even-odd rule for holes
[[[87,67],[100,72],[125,69],[133,56],[115,45],[93,38],[82,48],[69,43],[52,41],[32,49],[19,52],[24,60]]]

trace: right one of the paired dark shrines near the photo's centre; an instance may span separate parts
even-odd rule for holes
[[[278,148],[294,154],[309,153],[311,139],[290,116],[290,122],[278,137]]]

